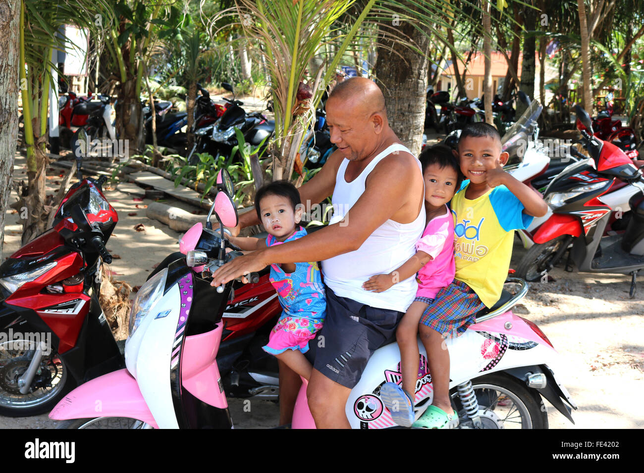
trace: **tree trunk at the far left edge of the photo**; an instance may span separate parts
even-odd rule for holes
[[[0,0],[0,31],[17,32],[19,21],[20,0]],[[18,139],[18,40],[17,34],[0,35],[0,257]]]

